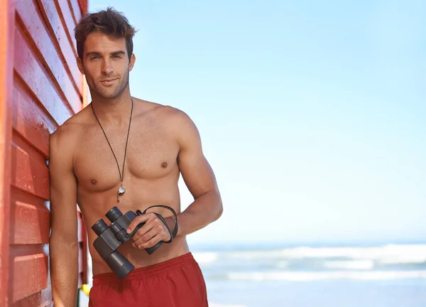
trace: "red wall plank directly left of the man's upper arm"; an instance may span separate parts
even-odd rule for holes
[[[11,145],[11,184],[48,200],[49,170],[43,156],[16,133]]]

